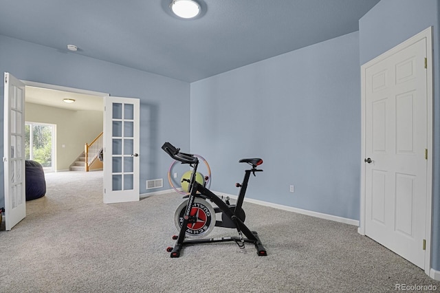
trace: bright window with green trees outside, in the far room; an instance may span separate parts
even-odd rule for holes
[[[45,171],[54,171],[55,124],[25,122],[25,159],[39,162]]]

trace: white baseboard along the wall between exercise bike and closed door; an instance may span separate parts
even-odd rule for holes
[[[214,193],[217,195],[223,195],[223,197],[228,196],[232,199],[236,199],[238,197],[237,195],[228,195],[228,194],[220,193],[220,192],[214,192]],[[358,220],[347,219],[344,217],[338,217],[338,216],[318,213],[318,212],[314,212],[312,210],[303,210],[302,208],[294,208],[292,206],[283,206],[282,204],[273,204],[272,202],[263,202],[262,200],[252,199],[252,198],[245,198],[245,202],[250,202],[252,204],[259,204],[261,206],[270,206],[271,208],[278,208],[279,210],[287,210],[289,212],[294,212],[294,213],[298,213],[298,214],[302,214],[302,215],[308,215],[311,217],[318,217],[321,219],[328,219],[331,221],[338,221],[338,222],[344,223],[344,224],[359,226]]]

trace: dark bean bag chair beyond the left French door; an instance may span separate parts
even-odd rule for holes
[[[46,194],[43,166],[39,162],[26,160],[26,201]]]

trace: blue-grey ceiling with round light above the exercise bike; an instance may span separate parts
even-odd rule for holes
[[[380,0],[197,1],[192,20],[170,0],[0,1],[0,34],[194,82],[355,32]]]

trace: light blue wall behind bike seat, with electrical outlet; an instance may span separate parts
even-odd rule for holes
[[[358,32],[191,83],[190,111],[214,191],[236,194],[238,160],[261,157],[247,197],[359,219]]]

